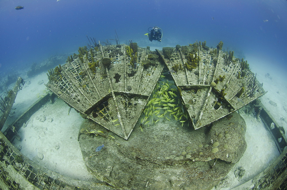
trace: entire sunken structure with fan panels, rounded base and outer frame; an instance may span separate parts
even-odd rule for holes
[[[79,54],[48,71],[51,93],[31,105],[5,136],[0,133],[4,184],[10,189],[212,189],[246,150],[247,126],[236,111],[249,103],[267,126],[273,123],[282,152],[252,183],[262,187],[262,179],[283,179],[286,138],[257,101],[266,93],[263,83],[246,60],[222,51],[222,45],[209,48],[204,41],[155,51],[132,42],[79,47]],[[79,147],[99,181],[40,167],[9,142],[53,95],[86,118],[79,126]],[[170,126],[170,120],[181,128]],[[276,165],[276,173],[270,172]]]

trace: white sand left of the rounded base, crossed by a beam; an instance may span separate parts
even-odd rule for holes
[[[48,82],[46,73],[26,80],[13,105],[13,108],[17,108],[17,115],[9,118],[5,124],[13,122],[39,95],[46,94],[44,84],[38,84],[42,80]],[[13,144],[28,158],[47,169],[73,179],[89,181],[94,177],[86,169],[77,141],[84,119],[74,109],[68,115],[68,109],[69,106],[56,97],[53,104],[44,105],[31,116],[26,127],[20,128],[18,133],[22,139],[15,139]]]

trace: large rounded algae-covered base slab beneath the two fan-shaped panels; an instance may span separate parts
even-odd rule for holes
[[[85,164],[101,181],[126,190],[137,189],[143,180],[149,181],[150,189],[172,189],[172,186],[211,189],[226,176],[246,150],[246,124],[236,112],[214,122],[208,130],[185,127],[169,127],[167,130],[165,127],[161,124],[150,125],[148,130],[143,131],[135,127],[128,141],[106,138],[113,136],[112,132],[104,132],[103,136],[99,134],[94,138],[82,133],[79,145]],[[80,128],[105,131],[89,120],[83,122]],[[218,138],[216,133],[225,134],[225,131],[228,131],[230,138]],[[156,138],[151,134],[156,134]],[[213,142],[217,147],[212,146]],[[104,149],[93,156],[96,147],[101,144],[104,144]],[[219,158],[216,161],[217,171],[211,173],[210,166],[216,158]],[[114,168],[107,177],[106,168],[110,165],[117,166],[117,170]],[[163,170],[166,173],[162,173]],[[243,175],[243,171],[240,174],[238,172],[238,175]],[[171,176],[177,176],[177,179]],[[130,180],[131,177],[133,180]]]

